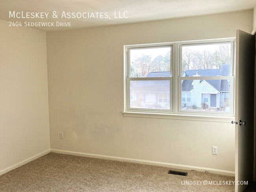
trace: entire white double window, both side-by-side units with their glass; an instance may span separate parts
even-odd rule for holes
[[[234,39],[124,48],[125,112],[234,116]]]

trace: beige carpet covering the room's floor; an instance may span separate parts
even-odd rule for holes
[[[0,176],[0,192],[233,192],[234,185],[182,185],[184,181],[234,181],[234,177],[49,153]],[[180,170],[182,171],[182,170]]]

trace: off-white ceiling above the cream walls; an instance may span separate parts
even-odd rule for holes
[[[18,21],[22,25],[25,25],[25,22],[32,24],[53,22],[54,26],[33,28],[56,31],[224,13],[253,9],[253,7],[256,7],[256,0],[0,0],[0,19]],[[15,11],[18,16],[22,11],[24,14],[32,12],[49,12],[49,14],[48,18],[9,18],[9,11],[11,13]],[[58,18],[52,18],[53,11],[56,11]],[[78,13],[78,17],[80,13],[85,13],[84,16],[88,17],[89,13],[91,18],[61,18],[63,11],[66,16],[68,12]],[[115,16],[119,17],[119,11],[121,17],[128,18],[115,18]],[[102,12],[102,17],[108,15],[108,18],[99,18],[98,12]],[[98,18],[96,18],[97,13]],[[56,26],[57,22],[70,22],[71,26]]]

